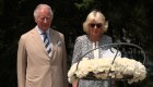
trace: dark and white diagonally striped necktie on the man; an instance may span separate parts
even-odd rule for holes
[[[51,46],[50,46],[49,39],[48,39],[46,33],[43,33],[43,35],[44,35],[44,44],[45,44],[46,50],[47,50],[48,54],[50,55],[51,54]]]

